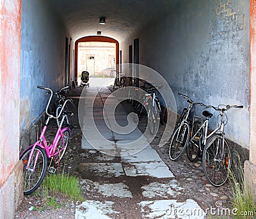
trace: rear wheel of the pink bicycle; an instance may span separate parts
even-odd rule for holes
[[[54,165],[58,165],[60,163],[60,160],[63,158],[63,155],[65,154],[65,151],[68,146],[69,136],[70,136],[70,133],[68,132],[68,130],[65,130],[63,132],[63,138],[60,137],[60,139],[58,140],[58,143],[54,152],[54,156],[53,156]]]

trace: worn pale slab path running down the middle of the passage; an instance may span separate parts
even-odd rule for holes
[[[89,156],[100,154],[94,162],[79,165],[88,200],[76,207],[76,218],[204,218],[205,211],[193,197],[180,198],[186,191],[137,124],[128,133],[111,128],[115,121],[122,127],[129,121],[122,104],[115,116],[104,109],[111,95],[108,87],[84,89],[79,103],[82,149]],[[113,96],[109,100],[116,102]]]

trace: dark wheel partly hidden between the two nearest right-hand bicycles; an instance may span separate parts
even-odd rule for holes
[[[199,130],[200,126],[201,126],[201,123],[199,121],[195,121],[195,123],[193,123],[191,137],[194,137],[195,133]],[[193,139],[189,140],[188,147],[187,147],[187,155],[188,155],[188,160],[190,160],[191,162],[198,161],[198,158],[201,153],[200,144],[201,144],[202,136],[203,136],[203,133],[201,129]]]

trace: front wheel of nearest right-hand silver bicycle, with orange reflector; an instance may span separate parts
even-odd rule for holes
[[[221,186],[228,178],[230,166],[231,154],[227,140],[224,140],[223,147],[223,137],[218,134],[212,135],[207,139],[204,147],[203,169],[205,177],[212,185]]]

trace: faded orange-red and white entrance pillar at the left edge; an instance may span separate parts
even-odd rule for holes
[[[0,218],[14,218],[19,161],[20,1],[0,1]],[[22,173],[22,166],[19,173]],[[19,179],[18,179],[19,178]],[[23,195],[23,194],[22,194]]]

